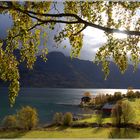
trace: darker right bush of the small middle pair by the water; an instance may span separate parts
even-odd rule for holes
[[[70,126],[73,122],[73,115],[70,112],[65,113],[64,119],[63,119],[63,125]]]

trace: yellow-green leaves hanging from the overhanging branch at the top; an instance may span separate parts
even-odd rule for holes
[[[0,79],[10,81],[9,99],[11,105],[19,92],[19,64],[26,61],[32,69],[36,55],[40,51],[40,35],[44,38],[42,57],[46,59],[47,32],[56,23],[65,24],[54,37],[60,43],[68,38],[71,44],[71,57],[78,57],[83,46],[82,31],[90,26],[105,32],[107,43],[98,50],[95,62],[102,63],[106,77],[109,75],[110,59],[124,73],[128,61],[134,68],[139,64],[140,42],[140,2],[113,1],[65,1],[63,13],[57,9],[57,2],[0,2],[0,13],[9,14],[13,26],[4,40],[0,40]],[[51,10],[55,13],[51,13]],[[57,13],[56,13],[57,12]],[[126,38],[115,38],[114,33],[124,33]],[[4,45],[4,43],[6,45]],[[20,59],[14,55],[19,49]],[[130,54],[130,57],[128,57]]]

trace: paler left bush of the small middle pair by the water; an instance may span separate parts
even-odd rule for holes
[[[55,113],[54,117],[53,117],[53,122],[56,124],[56,125],[62,125],[63,124],[63,114],[60,112],[60,113]]]

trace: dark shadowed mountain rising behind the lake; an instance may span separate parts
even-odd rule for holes
[[[112,62],[110,75],[104,80],[102,67],[91,61],[71,59],[60,52],[51,52],[47,58],[45,63],[38,57],[33,70],[20,66],[22,87],[140,88],[140,69],[134,73],[132,65],[122,75]]]

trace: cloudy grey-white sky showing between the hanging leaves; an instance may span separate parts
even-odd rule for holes
[[[12,26],[12,19],[8,15],[0,15],[0,37],[6,37],[6,31]],[[63,25],[61,25],[63,26]],[[53,36],[56,31],[60,28],[57,26],[54,31],[48,31],[48,43],[47,47],[49,51],[60,51],[63,52],[65,55],[69,56],[70,54],[70,44],[68,39],[63,41],[62,44],[57,46],[55,41],[53,40]],[[103,43],[106,42],[106,37],[103,31],[87,27],[84,31],[84,40],[83,40],[83,48],[81,50],[80,59],[83,60],[93,60],[95,53],[97,52],[98,48],[102,46]],[[66,45],[66,49],[63,46]]]

